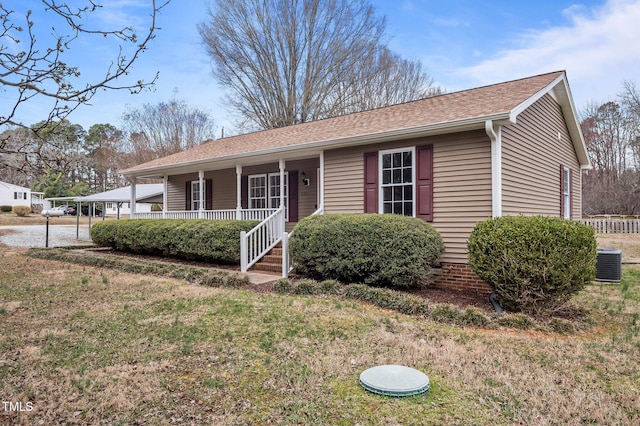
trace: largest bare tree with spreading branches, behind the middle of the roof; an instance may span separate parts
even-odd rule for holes
[[[198,29],[226,104],[259,128],[416,99],[431,84],[383,47],[385,20],[366,0],[213,0]]]

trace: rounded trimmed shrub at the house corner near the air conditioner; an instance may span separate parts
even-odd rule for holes
[[[595,279],[593,228],[544,216],[500,217],[469,236],[469,265],[515,311],[551,309]]]

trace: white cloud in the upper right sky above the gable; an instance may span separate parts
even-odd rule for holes
[[[640,79],[640,0],[609,0],[600,8],[563,13],[568,25],[526,31],[514,39],[516,47],[462,68],[457,77],[490,84],[567,70],[578,107],[612,99],[623,80]]]

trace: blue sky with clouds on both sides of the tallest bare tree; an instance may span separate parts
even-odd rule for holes
[[[149,1],[102,3],[103,23],[148,23]],[[233,133],[233,121],[220,102],[222,88],[210,75],[209,58],[196,29],[207,18],[208,4],[208,0],[173,0],[162,10],[157,23],[162,29],[131,75],[149,80],[159,71],[153,91],[99,93],[92,106],[75,111],[70,120],[85,129],[96,123],[120,126],[126,108],[169,100],[175,93],[208,111],[218,126],[225,127],[225,134]],[[640,0],[371,0],[371,4],[387,17],[392,50],[421,60],[447,91],[566,70],[576,108],[581,110],[590,101],[615,98],[624,80],[640,85]],[[39,1],[10,0],[5,6],[16,15],[31,8],[36,26],[43,30],[40,38],[46,40],[50,24],[55,23],[47,21]],[[95,76],[96,70],[108,65],[105,58],[113,57],[114,49],[76,42],[67,53],[68,62],[83,76]],[[0,102],[3,98],[8,94],[0,92]],[[32,124],[45,117],[46,108],[45,101],[33,102],[19,111],[19,118]]]

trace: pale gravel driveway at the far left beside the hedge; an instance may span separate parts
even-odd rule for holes
[[[45,247],[45,225],[0,226],[0,243],[13,247]],[[89,228],[81,225],[76,239],[76,225],[49,225],[49,247],[91,244]]]

